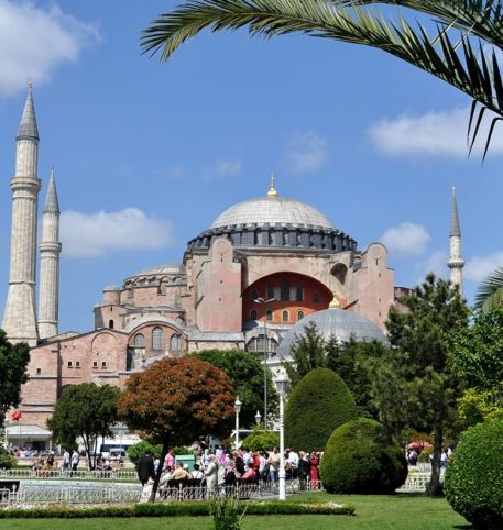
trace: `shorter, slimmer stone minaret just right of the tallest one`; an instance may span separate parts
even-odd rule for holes
[[[59,205],[57,202],[54,166],[51,167],[44,212],[42,213],[42,241],[40,250],[39,336],[57,335],[59,295]]]

